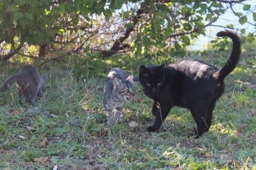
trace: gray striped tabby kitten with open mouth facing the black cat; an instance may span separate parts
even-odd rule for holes
[[[122,122],[122,110],[124,102],[132,101],[135,95],[133,76],[120,68],[111,69],[104,85],[103,105],[107,116],[107,124]],[[114,114],[112,110],[114,109]]]

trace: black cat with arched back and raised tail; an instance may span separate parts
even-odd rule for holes
[[[240,57],[241,41],[232,31],[220,31],[217,36],[232,39],[233,48],[226,65],[219,71],[215,66],[198,60],[185,60],[167,67],[140,66],[139,82],[144,93],[154,100],[152,113],[156,116],[147,131],[156,131],[170,112],[171,107],[190,109],[201,136],[211,127],[217,99],[225,89],[224,78],[231,73]]]

